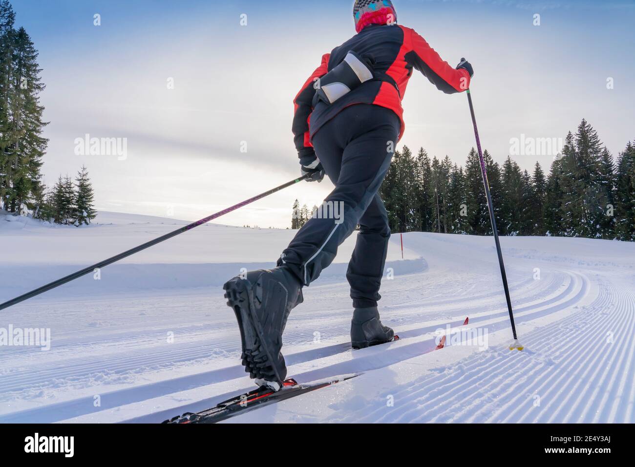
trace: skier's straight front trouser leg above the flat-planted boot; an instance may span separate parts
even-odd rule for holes
[[[354,308],[377,306],[390,236],[384,201],[377,193],[359,219],[359,233],[346,272]]]

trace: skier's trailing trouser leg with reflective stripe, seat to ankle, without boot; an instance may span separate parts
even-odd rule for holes
[[[281,255],[304,285],[318,278],[337,254],[337,247],[354,231],[373,202],[392,159],[399,135],[399,118],[377,105],[352,105],[314,135],[320,160],[333,140],[344,147],[335,189],[324,200],[333,215],[312,218],[298,231]],[[328,173],[328,163],[324,164]]]

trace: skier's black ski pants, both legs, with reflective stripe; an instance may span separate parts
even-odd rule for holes
[[[377,306],[391,235],[378,194],[400,130],[398,116],[385,107],[356,104],[324,124],[312,144],[335,189],[318,214],[304,224],[278,264],[287,264],[304,285],[316,280],[337,248],[359,224],[346,278],[355,308]]]

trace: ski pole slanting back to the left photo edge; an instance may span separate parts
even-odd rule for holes
[[[210,222],[210,220],[213,219],[217,219],[217,217],[220,217],[224,214],[227,214],[228,212],[232,212],[237,210],[238,208],[242,208],[243,206],[246,206],[250,203],[253,203],[253,201],[258,201],[261,200],[262,198],[265,198],[265,196],[269,196],[270,194],[276,193],[277,191],[280,191],[281,189],[284,189],[286,187],[289,187],[291,185],[295,185],[298,182],[307,179],[309,177],[309,175],[311,175],[310,173],[307,173],[305,175],[302,175],[302,177],[300,177],[299,179],[295,179],[295,180],[291,180],[290,182],[286,182],[284,184],[282,184],[281,186],[277,186],[275,188],[272,188],[269,191],[265,191],[264,193],[260,193],[257,194],[256,196],[254,196],[253,198],[249,198],[248,200],[244,200],[241,201],[241,203],[238,203],[236,205],[230,206],[229,208],[226,208],[222,211],[218,211],[217,213],[208,215],[208,217],[204,217],[201,220],[197,220],[196,222],[192,222],[192,224],[188,224],[187,226],[184,227],[180,227],[180,229],[177,229],[175,231],[172,231],[170,233],[167,233],[165,235],[162,235],[158,238],[155,238],[154,240],[150,240],[147,241],[145,243],[143,243],[142,245],[138,245],[138,247],[135,248],[131,248],[130,250],[127,250],[123,253],[120,253],[118,255],[115,255],[113,257],[110,257],[109,259],[105,259],[104,261],[100,261],[96,264],[93,264],[93,266],[88,266],[88,267],[84,267],[84,269],[81,269],[75,273],[69,274],[68,276],[65,276],[61,279],[58,279],[56,281],[53,281],[51,283],[48,283],[46,285],[43,285],[42,287],[36,288],[35,290],[31,290],[30,292],[27,292],[26,294],[20,295],[19,297],[15,297],[15,299],[11,299],[10,301],[4,302],[3,304],[0,304],[0,310],[1,309],[5,309],[5,308],[9,308],[10,306],[13,306],[17,303],[20,303],[22,301],[25,301],[26,299],[30,299],[31,297],[35,297],[36,295],[39,294],[43,294],[44,292],[51,290],[51,288],[55,288],[55,287],[59,287],[60,285],[63,285],[67,282],[70,282],[72,280],[75,280],[81,276],[84,276],[86,274],[89,274],[93,271],[95,271],[95,269],[98,269],[100,267],[104,267],[104,266],[108,266],[109,264],[112,264],[116,261],[119,261],[120,259],[124,259],[125,257],[128,257],[130,255],[133,255],[137,252],[140,252],[142,250],[145,250],[145,248],[149,248],[152,247],[152,245],[156,245],[157,243],[161,243],[164,240],[168,240],[168,238],[172,238],[177,236],[178,234],[182,234],[184,232],[187,232],[191,229],[194,229],[194,227],[198,227],[202,224],[205,224],[206,222]]]

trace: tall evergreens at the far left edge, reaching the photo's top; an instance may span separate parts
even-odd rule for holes
[[[48,140],[39,93],[44,89],[29,34],[15,29],[15,12],[0,1],[0,207],[36,209],[43,197],[40,168]]]

